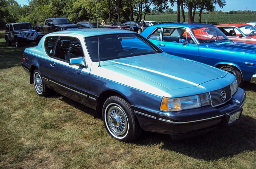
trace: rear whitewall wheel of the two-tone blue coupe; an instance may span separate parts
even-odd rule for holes
[[[37,69],[34,71],[33,80],[36,93],[39,96],[47,96],[49,93],[49,89],[45,86],[44,81],[41,77],[41,73]]]

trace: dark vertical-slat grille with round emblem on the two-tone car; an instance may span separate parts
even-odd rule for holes
[[[225,97],[225,99],[222,98],[223,99],[222,100],[221,94],[223,94],[223,91],[225,92],[226,97]],[[212,106],[218,106],[218,105],[224,104],[231,99],[230,86],[228,85],[225,88],[211,91],[210,96],[211,96]],[[224,96],[224,94],[223,94],[223,96]]]

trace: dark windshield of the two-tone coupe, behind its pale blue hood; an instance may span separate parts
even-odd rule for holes
[[[99,61],[98,38],[84,38],[93,62]],[[138,34],[113,34],[99,36],[100,61],[163,52]]]

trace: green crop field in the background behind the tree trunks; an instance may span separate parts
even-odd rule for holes
[[[188,15],[185,15],[188,22]],[[198,14],[195,15],[194,22],[198,22]],[[180,16],[182,22],[182,16]],[[145,20],[154,20],[158,23],[177,22],[177,14],[146,15]],[[225,24],[225,23],[248,23],[256,21],[255,14],[202,14],[202,23]]]

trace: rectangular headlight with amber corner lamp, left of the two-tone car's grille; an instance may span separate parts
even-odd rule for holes
[[[209,93],[187,97],[167,98],[163,97],[160,110],[181,111],[203,107],[211,104]]]

